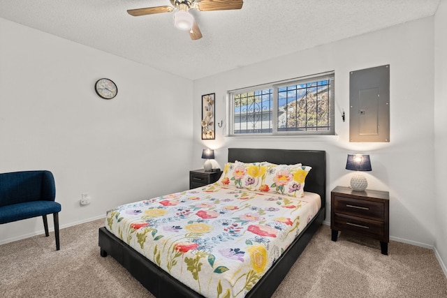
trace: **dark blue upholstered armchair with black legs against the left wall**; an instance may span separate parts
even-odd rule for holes
[[[50,171],[24,171],[0,174],[0,224],[43,217],[45,236],[48,237],[47,214],[53,214],[56,250],[59,251],[59,211],[54,202],[56,188]]]

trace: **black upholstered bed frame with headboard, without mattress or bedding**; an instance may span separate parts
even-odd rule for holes
[[[325,219],[325,151],[230,148],[228,149],[228,162],[234,161],[244,163],[269,161],[277,164],[303,163],[303,165],[309,165],[312,170],[306,177],[305,191],[318,193],[321,196],[321,209],[318,214],[245,296],[268,298],[273,295]],[[147,260],[105,227],[99,229],[99,246],[101,246],[102,257],[110,255],[115,258],[155,297],[203,297]]]

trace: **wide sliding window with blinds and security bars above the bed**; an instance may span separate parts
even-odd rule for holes
[[[230,135],[334,135],[334,72],[229,91]]]

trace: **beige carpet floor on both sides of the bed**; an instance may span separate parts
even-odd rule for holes
[[[110,256],[101,258],[103,220],[0,246],[1,297],[154,297]],[[284,297],[447,297],[447,279],[433,251],[340,234],[321,226],[274,293]]]

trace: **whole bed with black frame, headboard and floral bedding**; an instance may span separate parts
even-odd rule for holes
[[[254,181],[249,179],[238,181],[235,179],[235,176],[230,177],[228,173],[235,172],[235,168],[240,166],[240,163],[251,166],[251,175],[255,177]],[[265,170],[263,172],[256,172],[255,169],[255,174],[253,174],[254,163],[256,163],[258,168],[263,168],[266,165],[267,169],[275,169],[276,167],[270,165],[270,163],[272,163],[274,165],[294,165],[299,169],[305,169],[305,184],[304,178],[302,181],[304,189],[300,188],[299,185],[298,191],[297,188],[292,189],[292,186],[284,189],[284,187],[281,188],[281,183],[279,183],[278,180],[273,182],[261,180],[261,174],[264,174],[263,177],[265,177]],[[247,166],[245,166],[246,169],[248,168]],[[232,170],[229,171],[227,167],[231,167]],[[277,170],[277,172],[279,172],[279,170]],[[228,177],[225,177],[226,174],[228,174]],[[256,180],[256,175],[258,174],[259,179]],[[204,293],[205,297],[271,297],[295,260],[298,259],[299,255],[305,249],[310,239],[312,239],[316,230],[318,230],[318,227],[325,219],[325,176],[325,151],[230,148],[228,149],[228,164],[224,169],[223,176],[216,184],[211,184],[200,189],[197,188],[190,191],[184,191],[182,193],[166,195],[160,198],[153,198],[151,200],[126,204],[108,211],[106,225],[99,229],[101,256],[106,257],[110,255],[112,258],[115,258],[117,262],[125,267],[156,297],[204,297],[198,292]],[[232,184],[233,186],[237,186],[236,189],[230,187]],[[254,186],[255,184],[256,188],[251,189],[251,186]],[[270,186],[271,189],[266,187],[266,185]],[[296,187],[296,185],[293,187]],[[226,193],[228,198],[221,197],[222,193]],[[293,198],[292,195],[295,193],[299,193],[299,195],[295,195],[295,198]],[[206,195],[213,201],[205,202],[202,200],[201,195]],[[309,202],[314,200],[312,197],[315,196],[318,197],[318,208],[316,209],[315,207],[311,207],[311,204],[307,202],[307,200],[309,200]],[[237,200],[234,200],[235,198]],[[251,200],[252,198],[253,200]],[[195,199],[202,204],[201,207],[206,205],[205,207],[207,208],[185,209],[185,207],[182,207],[182,204],[187,204],[187,206],[192,206],[194,208],[196,205],[193,204],[193,200]],[[189,200],[192,201],[189,202]],[[248,203],[241,202],[243,205],[240,206],[244,206],[243,208],[247,208],[247,210],[245,210],[245,213],[242,215],[241,213],[235,215],[237,214],[237,211],[240,211],[237,209],[242,209],[242,207],[237,207],[235,205],[235,201],[239,202],[243,200],[247,200]],[[257,200],[262,200],[262,202]],[[223,201],[230,202],[230,207],[218,206],[222,204]],[[153,204],[157,204],[161,207],[154,208]],[[210,204],[212,205],[211,208]],[[186,212],[186,215],[177,214],[177,216],[171,216],[168,219],[161,219],[161,217],[154,219],[156,216],[159,216],[159,214],[154,216],[155,211],[164,214],[169,211],[167,208],[170,207],[170,205],[177,208],[180,213]],[[309,208],[307,208],[308,205]],[[279,208],[275,208],[274,206],[279,206]],[[284,214],[271,215],[271,217],[269,217],[270,211],[282,212],[286,209],[291,209],[292,212],[295,212],[297,209],[300,209],[300,211],[301,209],[304,210],[306,209],[305,207],[307,208],[307,212],[310,212],[312,216],[309,216],[308,214],[301,215],[301,217],[306,216],[306,218],[302,218],[301,220],[291,219],[290,216]],[[252,210],[249,208],[252,208]],[[312,211],[309,211],[311,209]],[[131,212],[129,212],[129,210]],[[207,237],[207,243],[204,244],[202,240],[199,240],[200,237],[197,237],[197,232],[200,234],[200,232],[203,231],[194,230],[193,232],[196,234],[193,234],[191,230],[189,230],[188,241],[181,241],[181,243],[177,241],[175,245],[173,243],[165,244],[164,246],[170,248],[170,250],[168,249],[168,251],[170,251],[170,256],[166,255],[165,257],[164,255],[159,255],[159,251],[161,251],[160,248],[163,246],[156,246],[155,241],[160,241],[163,237],[165,237],[163,241],[177,237],[168,236],[168,230],[175,230],[176,228],[181,230],[182,228],[185,228],[180,221],[182,216],[186,216],[187,219],[189,218],[186,222],[186,230],[193,225],[196,225],[196,227],[200,226],[200,229],[203,229],[204,227],[214,227],[216,225],[216,223],[212,222],[214,219],[219,220],[219,224],[223,222],[227,223],[226,221],[219,219],[219,216],[228,215],[228,210],[230,210],[230,218],[233,218],[233,225],[227,227],[233,229],[230,231],[231,233],[226,230],[226,234]],[[247,213],[247,211],[253,212]],[[233,212],[235,213],[233,214]],[[145,218],[145,221],[140,221],[138,223],[138,221],[133,219],[132,216],[136,216],[136,213],[145,214],[145,217],[143,217]],[[124,214],[130,214],[131,217],[124,218],[124,216],[122,216]],[[247,214],[249,218],[247,218]],[[259,216],[260,214],[261,216]],[[243,221],[241,221],[241,216],[245,216]],[[237,221],[235,221],[234,218],[237,218]],[[270,219],[272,220],[271,223],[268,221]],[[132,220],[133,222],[131,223]],[[119,226],[118,222],[123,223],[126,221],[129,221],[127,226],[132,227],[131,232],[129,232],[129,229]],[[172,229],[162,231],[161,225],[152,225],[153,223],[160,224],[162,221],[169,222],[164,223],[163,228],[167,226]],[[174,221],[175,223],[171,223]],[[282,231],[284,227],[291,228],[293,233],[296,234],[292,234],[291,237],[291,232]],[[145,233],[135,232],[136,229],[139,228],[142,228],[142,231],[145,231]],[[239,234],[237,234],[238,232]],[[135,237],[136,234],[139,236]],[[237,234],[237,237],[235,234]],[[248,238],[242,238],[239,236],[240,234],[244,234]],[[290,243],[285,243],[286,236],[284,236],[284,244],[281,244],[284,245],[282,248],[277,246],[279,244],[274,244],[273,242],[273,240],[277,240],[276,238],[279,239],[280,234],[281,237],[282,235],[286,235],[288,237],[287,241],[290,241]],[[222,236],[226,237],[226,239],[222,239]],[[152,238],[152,243],[147,241],[149,238]],[[230,238],[234,239],[236,242],[238,241],[237,245],[228,242],[231,240]],[[124,241],[122,239],[124,239]],[[177,237],[175,239],[179,238]],[[254,248],[255,246],[259,247],[257,244],[261,244],[263,239],[272,241],[265,244],[265,247],[274,248],[274,253],[272,253],[272,251],[266,252],[268,255],[266,260],[269,260],[268,265],[265,265],[265,262],[258,264],[252,262],[251,264],[254,268],[255,266],[258,266],[255,268],[258,269],[258,271],[251,270],[247,274],[240,274],[240,276],[245,278],[245,281],[243,281],[244,278],[237,278],[237,281],[242,283],[242,285],[237,283],[226,283],[223,278],[219,279],[219,281],[214,281],[210,278],[209,281],[203,283],[204,278],[201,277],[202,286],[200,288],[200,283],[198,282],[200,276],[198,276],[198,271],[203,271],[203,274],[207,274],[206,268],[209,267],[210,270],[214,270],[210,271],[211,274],[208,273],[209,276],[213,275],[213,272],[217,272],[217,274],[214,275],[224,276],[233,270],[231,267],[233,264],[235,264],[235,266],[241,265],[244,260],[244,266],[247,267],[249,262],[247,261],[249,260],[248,257],[251,256],[251,259],[256,258],[251,254],[251,248]],[[217,244],[214,245],[213,243]],[[248,246],[241,246],[242,243],[243,245],[247,244]],[[210,246],[208,244],[212,245]],[[199,248],[199,245],[203,246],[203,250],[200,250],[202,248]],[[222,249],[219,249],[220,247]],[[224,247],[226,248],[223,249]],[[230,247],[229,250],[227,249],[228,247]],[[240,249],[236,247],[242,248]],[[190,253],[193,253],[194,251],[201,252],[201,257],[193,260]],[[226,253],[223,253],[223,251],[226,251]],[[203,254],[204,252],[205,255]],[[189,255],[186,255],[186,253],[189,253]],[[244,253],[248,259],[242,258],[244,257]],[[147,255],[147,258],[144,254]],[[152,257],[149,256],[149,254],[152,255]],[[216,255],[224,255],[228,259],[219,261],[218,258],[214,258]],[[274,255],[274,258],[270,259],[271,255]],[[149,260],[149,258],[152,258],[152,260]],[[166,264],[163,263],[163,260],[166,260]],[[177,269],[173,268],[175,266],[177,266]],[[265,268],[263,266],[265,266]],[[179,274],[179,270],[182,270],[181,274]],[[233,271],[243,272],[242,270],[245,270],[244,267],[239,269],[235,268]],[[260,273],[256,275],[260,271],[262,271],[262,274]],[[189,276],[189,280],[193,283],[189,283],[189,286],[185,285],[174,276],[181,280],[182,278]],[[248,276],[251,276],[251,281],[249,281]],[[205,284],[207,284],[207,288],[211,289],[210,292],[204,290],[204,288],[206,288],[204,286]],[[240,290],[241,288],[242,290]],[[234,292],[232,292],[233,290]]]

